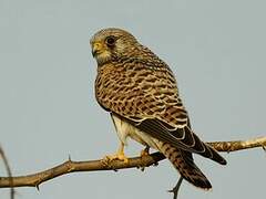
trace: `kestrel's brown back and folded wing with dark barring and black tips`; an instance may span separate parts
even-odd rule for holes
[[[98,102],[158,140],[225,164],[191,130],[172,71],[157,57],[126,60],[99,69]]]

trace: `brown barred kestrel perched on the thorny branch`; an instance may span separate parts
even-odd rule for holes
[[[98,63],[94,90],[100,106],[110,113],[120,146],[110,160],[125,163],[127,138],[162,153],[180,175],[195,187],[212,185],[196,166],[193,154],[221,165],[226,160],[193,132],[170,66],[129,31],[99,30],[90,40]]]

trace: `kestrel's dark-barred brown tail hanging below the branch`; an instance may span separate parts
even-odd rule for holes
[[[212,188],[212,185],[206,176],[194,164],[192,153],[178,149],[162,142],[157,143],[157,147],[158,150],[170,159],[183,178],[198,188],[206,190]]]

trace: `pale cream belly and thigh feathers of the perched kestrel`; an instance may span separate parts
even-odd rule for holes
[[[131,137],[132,139],[136,140],[137,143],[150,146],[152,148],[157,149],[156,139],[147,135],[146,133],[137,129],[133,125],[120,119],[115,115],[112,115],[114,125],[116,128],[116,134],[120,138],[120,140],[127,145],[126,138]]]

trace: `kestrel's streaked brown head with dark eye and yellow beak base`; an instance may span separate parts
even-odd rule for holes
[[[102,65],[130,55],[137,46],[136,39],[122,29],[109,28],[96,32],[90,40],[92,55]]]

